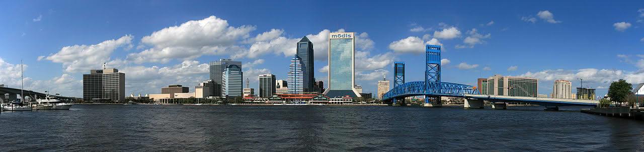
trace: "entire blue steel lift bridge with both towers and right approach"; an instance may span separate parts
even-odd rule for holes
[[[506,107],[506,103],[529,103],[546,107],[598,105],[598,101],[594,100],[482,95],[473,86],[440,81],[440,46],[427,45],[425,49],[425,81],[405,83],[404,62],[395,62],[394,86],[383,95],[383,101],[392,101],[396,104],[405,97],[425,96],[425,105],[440,106],[440,97],[446,96],[465,98],[466,108],[482,108],[483,101],[490,101],[495,103],[494,106],[502,106],[502,108]],[[497,105],[497,103],[504,105]]]

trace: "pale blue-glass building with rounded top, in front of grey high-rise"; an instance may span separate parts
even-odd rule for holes
[[[241,97],[242,92],[242,67],[228,65],[222,72],[222,97]]]

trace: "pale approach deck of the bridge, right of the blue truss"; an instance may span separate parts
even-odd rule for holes
[[[536,105],[553,105],[553,106],[564,106],[564,105],[578,105],[578,106],[596,106],[599,101],[594,100],[580,100],[580,99],[557,99],[557,98],[547,98],[547,97],[513,97],[513,96],[491,96],[491,95],[480,95],[480,94],[465,94],[465,97],[474,98],[474,99],[483,99],[487,101],[500,101],[500,102],[527,102],[535,103]]]

